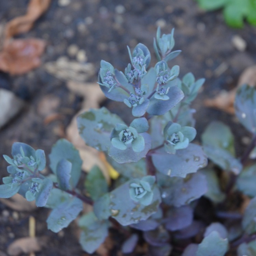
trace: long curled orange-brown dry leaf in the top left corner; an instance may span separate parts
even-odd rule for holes
[[[30,0],[27,13],[12,19],[5,28],[5,40],[14,35],[28,32],[37,20],[49,7],[51,0]]]

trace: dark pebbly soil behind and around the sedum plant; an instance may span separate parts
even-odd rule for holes
[[[120,3],[124,10],[122,6],[118,6]],[[0,26],[24,14],[27,4],[28,0],[0,1]],[[202,102],[216,96],[222,89],[229,90],[236,86],[241,72],[255,64],[256,28],[249,25],[245,25],[243,29],[229,28],[220,11],[206,13],[193,0],[72,0],[65,7],[53,0],[33,29],[20,36],[47,41],[41,67],[22,76],[0,72],[0,88],[11,90],[26,101],[22,112],[0,131],[0,155],[10,155],[15,141],[41,148],[48,155],[51,146],[64,136],[65,128],[81,107],[81,98],[69,92],[66,82],[47,73],[44,63],[55,61],[59,56],[68,56],[68,47],[76,44],[86,51],[88,62],[92,62],[97,70],[100,60],[104,59],[123,71],[129,62],[126,46],[133,48],[141,42],[153,52],[153,38],[159,24],[165,24],[162,28],[164,33],[175,28],[175,50],[181,49],[182,54],[173,60],[173,65],[180,65],[180,75],[193,72],[197,79],[206,78],[203,90],[193,105],[197,110],[197,139],[200,139],[200,134],[210,121],[222,120],[230,124],[239,138],[236,147],[238,156],[241,156],[245,147],[242,139],[248,136],[245,130],[233,116],[205,108]],[[234,35],[239,35],[246,41],[245,51],[240,52],[232,45]],[[152,65],[154,61],[153,58]],[[217,68],[223,63],[226,70],[217,72]],[[91,81],[96,80],[97,75],[91,78]],[[44,123],[44,117],[39,111],[40,103],[45,97],[60,100],[55,112],[61,118],[49,124]],[[109,101],[104,104],[109,105],[113,112],[125,116],[122,108],[115,108]],[[6,176],[6,166],[7,163],[0,160],[0,177]],[[9,217],[3,217],[4,210],[9,212]],[[28,236],[29,215],[36,219],[37,236],[49,238],[47,247],[36,253],[37,256],[87,255],[81,250],[73,232],[74,224],[55,234],[47,230],[47,209],[19,212],[17,218],[13,217],[15,214],[12,209],[0,203],[0,255],[1,251],[6,252],[8,245],[15,239]],[[112,255],[116,253],[113,251]]]

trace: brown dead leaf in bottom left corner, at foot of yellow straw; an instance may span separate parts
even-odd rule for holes
[[[18,256],[22,253],[32,253],[41,251],[43,246],[46,246],[46,237],[24,237],[12,242],[8,248],[7,253],[10,256]]]

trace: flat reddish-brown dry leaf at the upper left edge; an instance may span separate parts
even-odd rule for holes
[[[45,42],[39,39],[16,39],[6,43],[0,52],[0,70],[12,75],[25,74],[41,64]]]

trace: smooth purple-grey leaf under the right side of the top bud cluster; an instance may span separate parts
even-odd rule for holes
[[[171,86],[167,96],[169,97],[169,100],[157,100],[154,97],[150,98],[150,105],[147,108],[147,113],[150,115],[165,114],[184,98],[184,93],[180,88]]]

